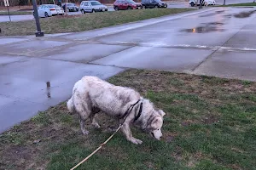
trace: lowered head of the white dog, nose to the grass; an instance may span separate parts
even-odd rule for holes
[[[152,120],[149,120],[147,125],[147,131],[148,133],[154,137],[155,139],[160,140],[161,136],[163,135],[161,132],[161,127],[163,126],[163,117],[166,115],[166,113],[162,110],[160,111],[154,111]]]

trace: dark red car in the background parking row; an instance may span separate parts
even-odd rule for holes
[[[135,3],[132,0],[116,0],[113,3],[114,10],[126,10],[126,9],[136,9],[143,8],[141,3]]]

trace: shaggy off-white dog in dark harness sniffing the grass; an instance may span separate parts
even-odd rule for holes
[[[114,86],[97,77],[83,77],[75,83],[73,96],[67,101],[67,108],[79,114],[84,134],[89,133],[84,127],[85,120],[90,118],[93,126],[100,127],[94,117],[96,113],[103,111],[123,122],[122,131],[133,144],[142,144],[143,141],[132,136],[131,123],[141,127],[155,139],[162,136],[164,111],[155,111],[153,104],[148,99],[143,99],[137,91]]]

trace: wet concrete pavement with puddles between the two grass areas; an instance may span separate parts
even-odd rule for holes
[[[0,37],[0,132],[127,68],[256,81],[256,8],[208,8],[95,31]]]

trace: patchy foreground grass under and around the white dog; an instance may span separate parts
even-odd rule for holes
[[[163,139],[133,129],[143,140],[136,145],[117,133],[78,169],[256,169],[256,82],[142,70],[108,82],[166,112]],[[102,128],[88,124],[84,136],[65,103],[40,112],[0,136],[0,169],[70,169],[110,136],[105,129],[116,122],[102,116]]]

